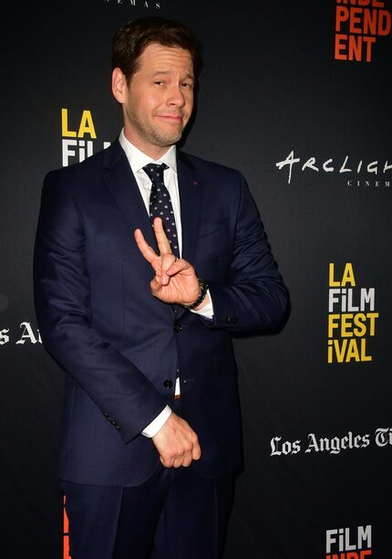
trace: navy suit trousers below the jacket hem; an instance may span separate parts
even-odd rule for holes
[[[72,559],[219,559],[233,475],[161,464],[137,487],[63,482]]]

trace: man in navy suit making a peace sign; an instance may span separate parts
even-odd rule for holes
[[[241,467],[230,332],[271,328],[284,313],[242,175],[176,150],[199,66],[182,24],[122,27],[119,140],[46,177],[36,312],[66,371],[60,477],[73,559],[143,559],[154,537],[161,559],[222,555]]]

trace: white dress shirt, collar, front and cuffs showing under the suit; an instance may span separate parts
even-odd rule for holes
[[[151,180],[149,175],[143,171],[143,167],[148,163],[166,163],[168,169],[163,172],[164,183],[169,191],[171,206],[173,207],[174,218],[176,221],[177,237],[179,240],[179,250],[180,256],[182,254],[182,227],[181,227],[181,206],[180,206],[180,192],[179,192],[179,182],[177,175],[177,158],[176,158],[176,146],[172,145],[166,153],[164,153],[158,161],[154,161],[145,153],[140,152],[140,150],[135,147],[132,143],[127,140],[124,135],[124,129],[121,130],[119,134],[119,143],[127,155],[130,168],[135,176],[136,183],[139,186],[140,195],[143,199],[144,206],[146,206],[146,211],[149,214],[150,206],[150,191],[151,191]],[[212,319],[213,316],[213,306],[210,296],[210,291],[208,291],[208,296],[210,301],[200,310],[192,311],[196,314],[201,314],[204,318]],[[176,379],[175,394],[180,395],[180,379]],[[150,425],[145,427],[142,431],[142,435],[145,437],[154,437],[160,431],[160,428],[166,423],[171,414],[170,406],[165,406],[165,408],[160,412],[158,417],[155,417],[151,421]]]

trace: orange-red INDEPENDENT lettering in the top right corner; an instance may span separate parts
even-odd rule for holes
[[[391,31],[391,14],[380,0],[336,0],[335,60],[371,62],[379,37]]]

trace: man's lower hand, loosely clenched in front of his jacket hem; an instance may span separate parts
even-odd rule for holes
[[[199,439],[189,423],[171,413],[160,431],[152,437],[160,453],[160,461],[165,468],[190,466],[192,460],[201,457]]]

